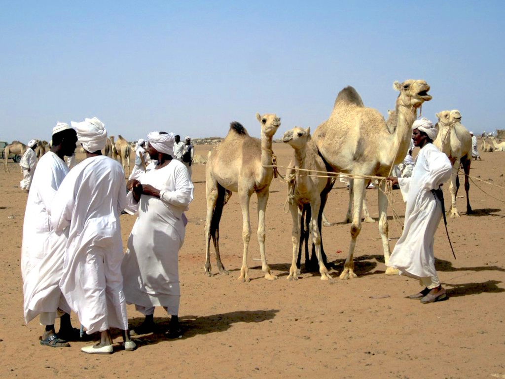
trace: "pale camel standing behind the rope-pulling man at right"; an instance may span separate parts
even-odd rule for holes
[[[470,191],[470,182],[468,175],[470,174],[470,164],[472,163],[472,136],[470,132],[461,124],[461,113],[458,110],[441,111],[435,115],[438,118],[437,125],[439,132],[433,141],[441,152],[449,158],[452,164],[452,175],[450,178],[449,191],[451,196],[451,206],[447,210],[450,212],[451,218],[460,217],[458,208],[456,207],[456,196],[460,187],[460,179],[458,170],[460,163],[463,165],[465,172],[465,192],[467,194],[467,214],[472,214],[472,207],[468,192]]]

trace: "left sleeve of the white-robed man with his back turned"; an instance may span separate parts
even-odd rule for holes
[[[75,185],[76,181],[70,172],[63,179],[51,204],[51,223],[57,235],[61,235],[63,230],[70,225],[72,211],[75,205]]]

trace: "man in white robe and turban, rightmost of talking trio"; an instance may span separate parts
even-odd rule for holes
[[[145,315],[136,334],[154,330],[154,310],[164,307],[171,315],[168,338],[182,335],[179,313],[179,249],[184,242],[184,211],[193,200],[193,184],[186,167],[172,159],[172,133],[149,133],[147,153],[153,162],[139,180],[127,183],[127,211],[138,218],[128,239],[121,270],[126,301]],[[133,333],[133,331],[132,331]]]

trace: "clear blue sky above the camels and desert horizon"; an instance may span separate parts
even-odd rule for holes
[[[354,86],[387,116],[395,80],[425,79],[432,120],[459,109],[505,128],[505,2],[3,2],[0,139],[50,139],[57,121],[96,116],[129,140],[149,131],[259,136],[312,130]]]

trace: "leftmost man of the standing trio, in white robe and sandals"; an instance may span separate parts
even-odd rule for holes
[[[76,132],[67,124],[58,123],[53,129],[53,141],[51,150],[38,162],[26,202],[21,275],[25,322],[40,314],[40,323],[45,326],[40,344],[62,347],[70,346],[67,341],[77,338],[79,330],[72,327],[70,308],[59,287],[67,239],[65,235],[57,236],[54,233],[51,204],[68,173],[64,157],[75,151]],[[58,335],[55,332],[57,309],[59,314],[65,312],[61,315]]]

